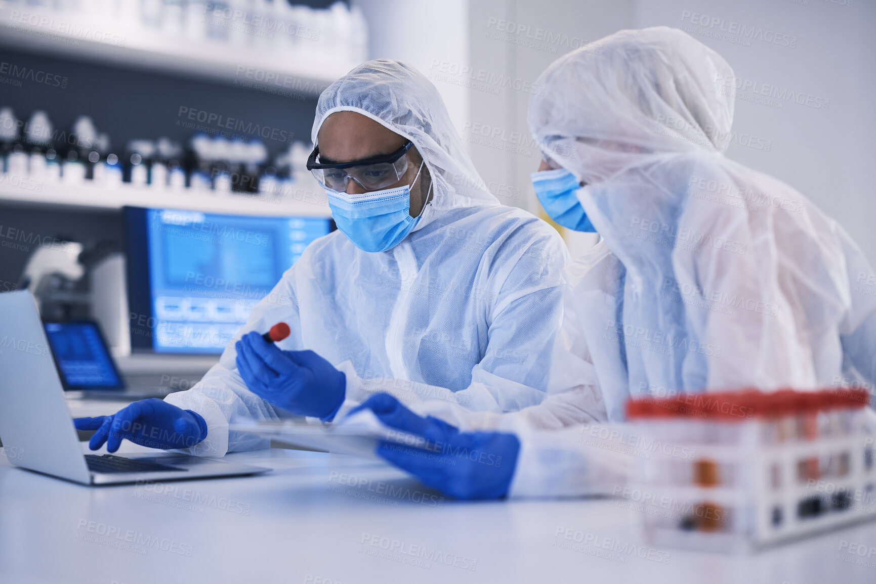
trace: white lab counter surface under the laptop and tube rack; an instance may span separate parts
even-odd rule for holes
[[[876,581],[873,523],[747,555],[686,552],[647,545],[623,500],[459,503],[378,461],[227,458],[273,470],[85,487],[0,456],[0,582]]]

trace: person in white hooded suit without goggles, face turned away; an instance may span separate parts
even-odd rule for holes
[[[555,221],[602,237],[567,268],[552,367],[559,386],[597,385],[581,394],[594,398],[576,402],[587,414],[577,417],[621,422],[635,396],[876,382],[872,266],[802,193],[724,156],[733,78],[720,55],[667,27],[617,32],[539,78],[546,90],[529,107],[545,152],[535,192]],[[454,496],[569,496],[616,484],[600,462],[608,451],[585,447],[582,427],[521,423],[550,402],[499,416],[508,433],[460,433],[389,396],[363,407],[451,445],[445,458],[502,455],[497,467],[480,454],[450,464],[378,450]]]

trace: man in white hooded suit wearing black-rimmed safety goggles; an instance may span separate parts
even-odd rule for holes
[[[308,161],[338,230],[311,243],[192,389],[77,419],[91,447],[122,439],[198,455],[267,447],[241,417],[323,421],[378,391],[407,403],[512,412],[542,401],[568,252],[502,206],[434,86],[373,60],[320,96]],[[262,334],[286,322],[276,344]]]

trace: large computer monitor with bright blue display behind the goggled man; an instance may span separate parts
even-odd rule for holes
[[[219,354],[329,217],[124,208],[131,347]]]

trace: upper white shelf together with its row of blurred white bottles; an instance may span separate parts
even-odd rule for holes
[[[296,90],[340,76],[368,48],[362,10],[343,2],[7,0],[0,22],[8,45]]]

